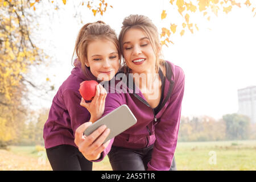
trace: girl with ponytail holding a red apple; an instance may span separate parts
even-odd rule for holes
[[[119,43],[109,25],[98,21],[85,24],[77,36],[71,75],[63,82],[52,101],[48,120],[44,125],[44,145],[53,170],[92,170],[92,162],[84,158],[74,143],[75,131],[82,123],[89,125],[104,112],[106,90],[99,84],[88,109],[80,106],[80,83],[85,80],[109,81],[119,69]],[[88,122],[90,121],[90,122]],[[109,130],[97,130],[98,142],[105,139]],[[102,142],[101,142],[102,143]],[[96,142],[97,144],[97,142]],[[100,145],[103,151],[108,143]],[[95,147],[94,150],[99,148]]]

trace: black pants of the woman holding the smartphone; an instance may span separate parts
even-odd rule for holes
[[[112,146],[108,156],[113,171],[145,171],[150,162],[153,145],[139,150]],[[170,171],[176,171],[175,158]]]

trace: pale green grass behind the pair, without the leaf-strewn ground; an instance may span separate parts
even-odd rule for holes
[[[10,146],[9,150],[17,155],[38,158],[35,146]],[[209,159],[213,157],[209,155],[210,151],[216,154],[216,164],[209,163]],[[255,171],[256,140],[178,142],[175,159],[177,170]],[[108,158],[94,163],[93,170],[112,170]]]

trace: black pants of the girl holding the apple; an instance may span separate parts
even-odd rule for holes
[[[47,148],[46,154],[53,171],[92,171],[92,162],[74,146],[62,144]]]

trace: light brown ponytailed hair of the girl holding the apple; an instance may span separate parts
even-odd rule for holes
[[[115,31],[102,21],[97,21],[94,23],[87,23],[79,31],[77,35],[75,49],[73,56],[76,53],[77,60],[81,63],[82,71],[85,76],[88,76],[88,69],[86,69],[85,63],[88,63],[87,60],[87,48],[90,42],[93,42],[96,39],[106,39],[111,41],[118,51],[119,60],[121,60],[121,51],[119,48],[119,42],[117,39],[117,34]],[[73,57],[72,56],[72,57]],[[75,62],[75,66],[77,62]]]

